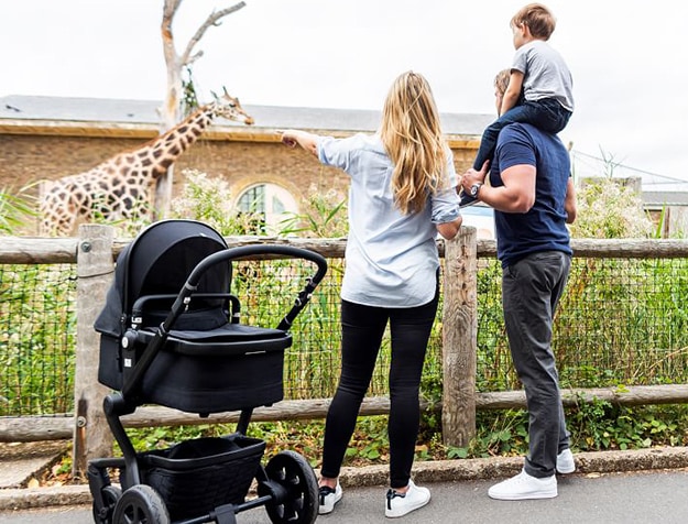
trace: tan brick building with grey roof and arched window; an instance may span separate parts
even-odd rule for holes
[[[160,102],[89,98],[0,98],[0,188],[18,189],[90,170],[157,137]],[[296,128],[347,137],[375,130],[380,113],[368,110],[248,106],[255,124],[219,120],[175,164],[175,192],[184,170],[222,176],[236,203],[262,198],[298,211],[307,193],[346,194],[347,177],[280,143],[276,130]],[[458,172],[470,166],[492,114],[443,114]],[[37,189],[35,189],[37,192]],[[270,214],[270,209],[265,209]]]

